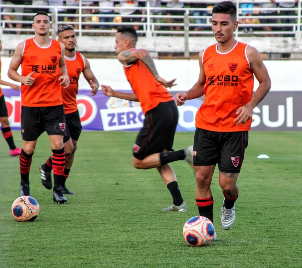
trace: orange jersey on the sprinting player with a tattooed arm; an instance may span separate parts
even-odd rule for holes
[[[141,60],[124,66],[126,77],[141,103],[141,109],[145,114],[156,107],[160,102],[172,101],[173,97],[168,90],[157,82]]]

